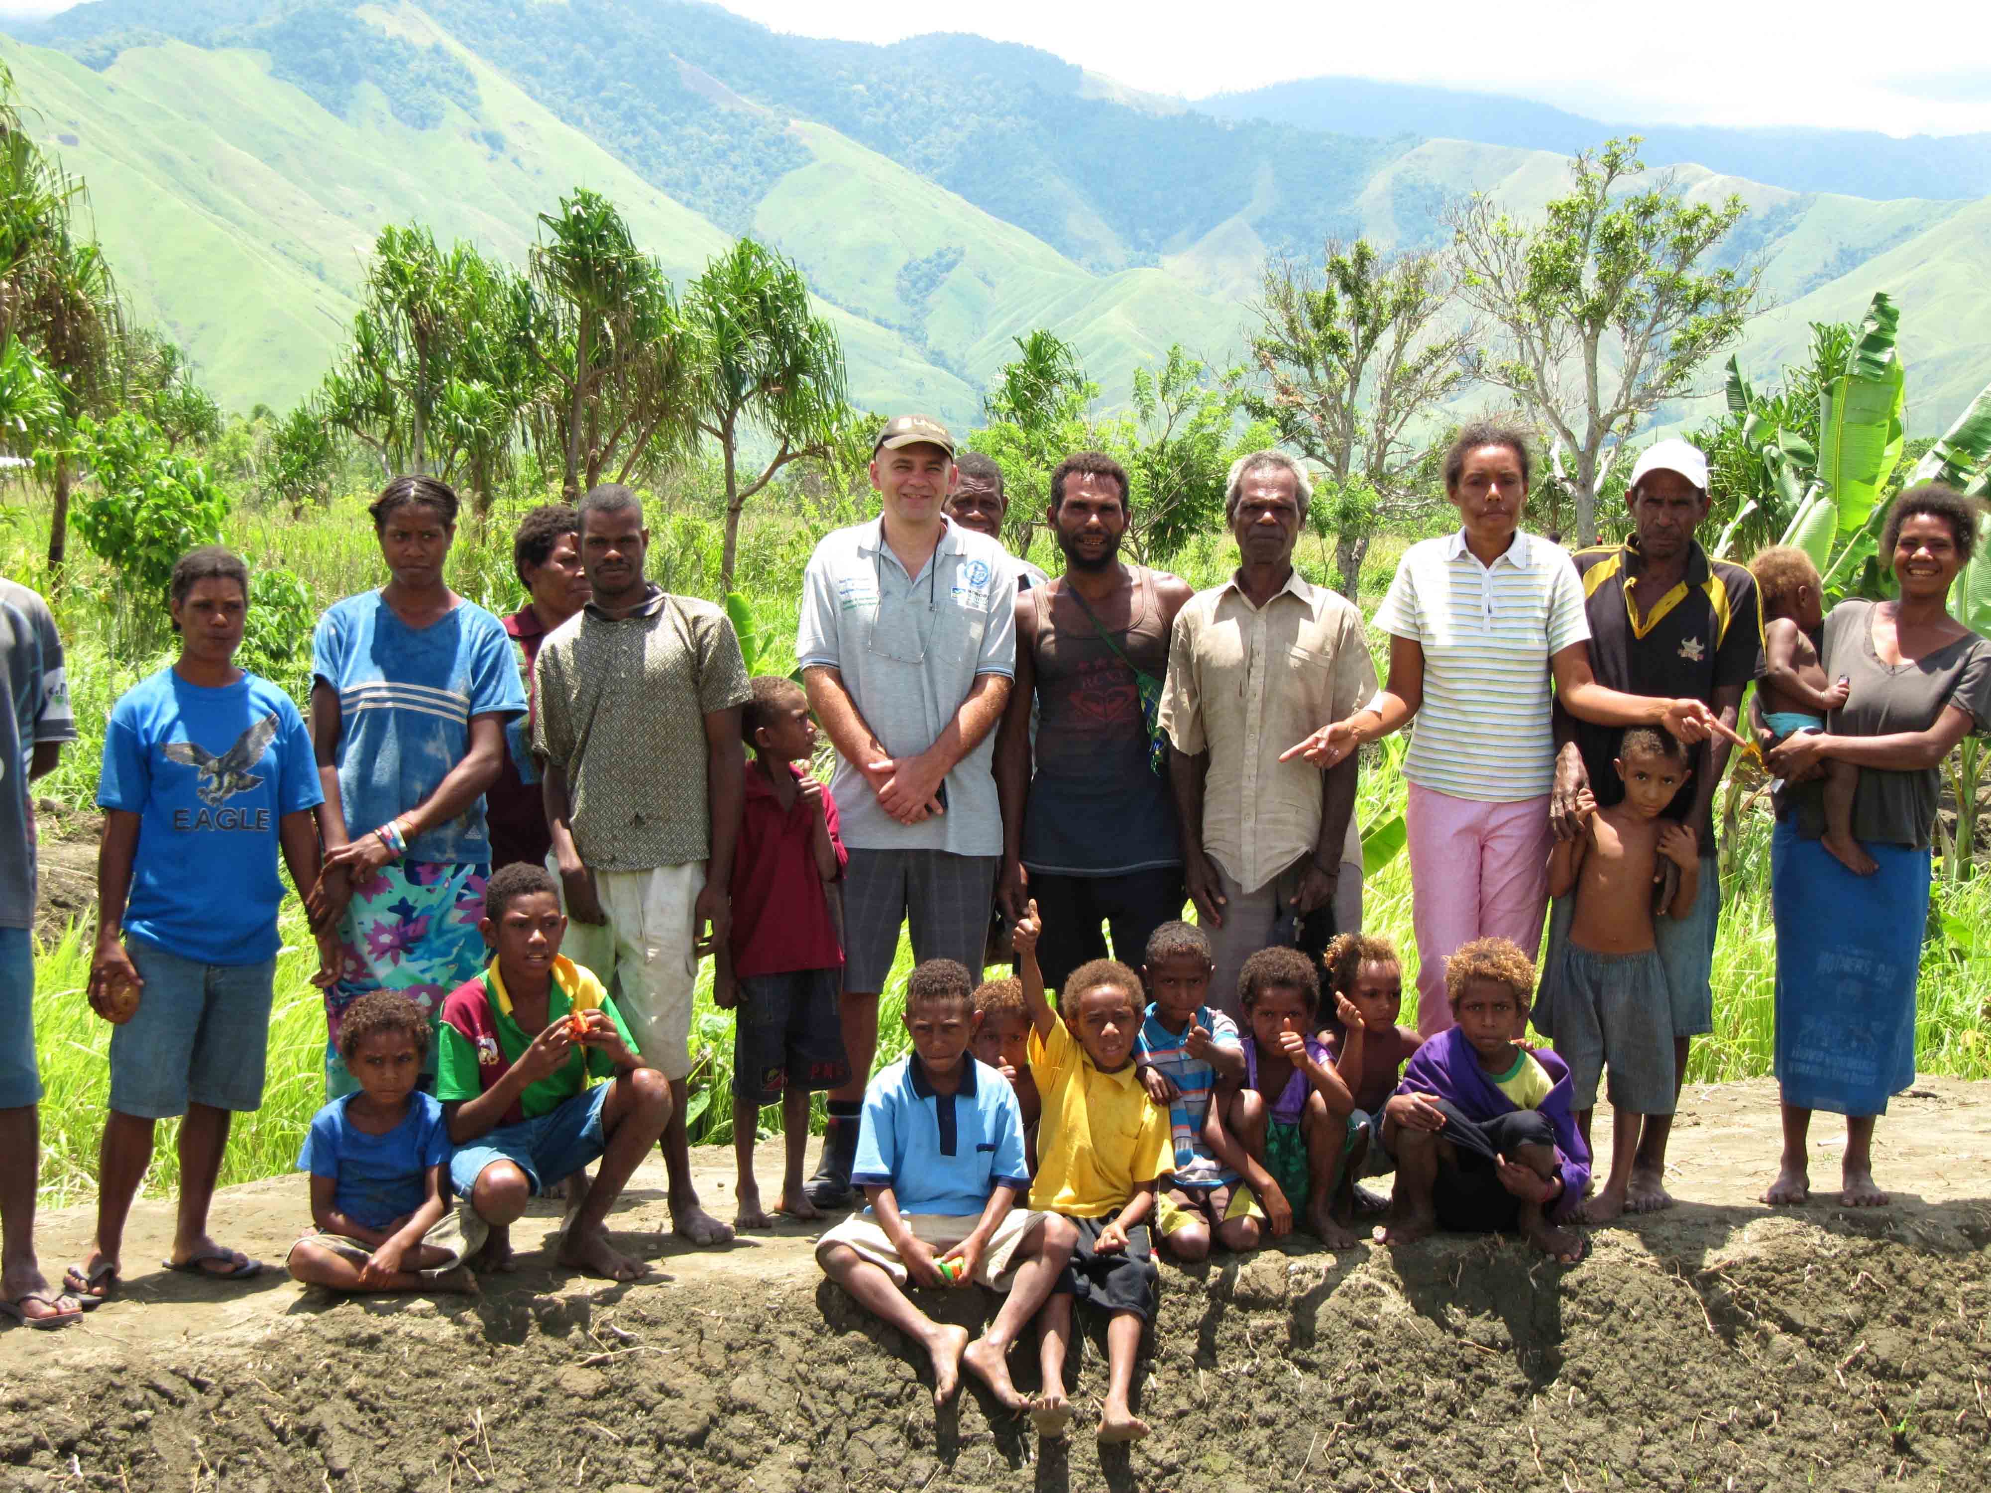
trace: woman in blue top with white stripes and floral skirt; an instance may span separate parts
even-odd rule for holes
[[[338,930],[325,989],[325,1095],[356,1089],[338,1017],[396,989],[430,1021],[484,967],[484,790],[526,691],[504,623],[442,579],[456,494],[394,478],[368,510],[388,583],[334,603],[313,635],[311,739],[325,786],[325,878],[313,912]],[[434,1045],[428,1057],[434,1077]]]

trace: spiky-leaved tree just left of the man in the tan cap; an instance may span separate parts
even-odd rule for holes
[[[844,414],[844,354],[836,328],[808,305],[808,285],[786,259],[741,239],[691,283],[685,315],[699,344],[693,380],[697,430],[719,446],[727,484],[721,591],[733,589],[741,512],[788,462],[820,458]],[[741,472],[749,432],[774,444]]]

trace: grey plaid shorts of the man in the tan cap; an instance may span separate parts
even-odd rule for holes
[[[960,960],[980,985],[999,870],[1001,856],[852,848],[844,868],[844,989],[884,989],[902,924],[914,961]]]

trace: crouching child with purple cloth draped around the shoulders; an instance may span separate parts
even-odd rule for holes
[[[1384,1105],[1396,1155],[1384,1244],[1519,1226],[1543,1254],[1583,1258],[1581,1236],[1551,1220],[1577,1214],[1591,1149],[1569,1107],[1569,1067],[1515,1041],[1533,987],[1535,965],[1505,938],[1475,938],[1445,961],[1455,1025],[1418,1049]]]

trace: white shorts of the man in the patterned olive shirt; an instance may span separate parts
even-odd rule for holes
[[[559,866],[546,858],[559,884]],[[691,1077],[691,991],[699,983],[691,912],[705,890],[705,862],[635,872],[595,872],[605,924],[569,914],[559,952],[591,969],[615,997],[637,1053],[667,1079]],[[565,890],[559,898],[567,912]]]

